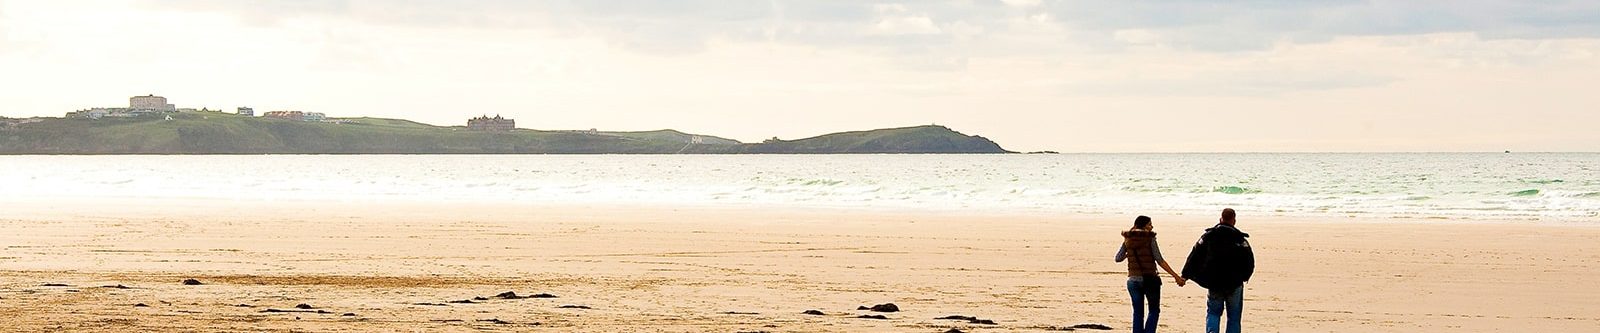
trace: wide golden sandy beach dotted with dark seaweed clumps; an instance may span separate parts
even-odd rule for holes
[[[8,208],[0,330],[1128,328],[1125,267],[1112,255],[1131,216],[352,207]],[[1214,216],[1155,221],[1176,269]],[[1584,282],[1600,274],[1597,227],[1251,211],[1240,227],[1259,263],[1245,293],[1251,331],[1600,327],[1600,287]],[[518,298],[496,298],[506,291]],[[539,293],[554,298],[522,298]],[[1200,331],[1205,291],[1168,282],[1163,295],[1162,330]],[[882,303],[901,311],[858,319],[880,314],[858,306]]]

